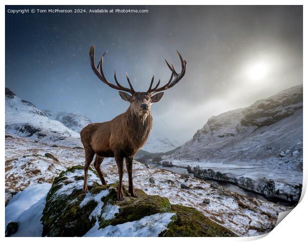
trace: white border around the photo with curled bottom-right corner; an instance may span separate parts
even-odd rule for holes
[[[171,1],[166,1],[166,0],[112,0],[106,2],[102,0],[87,0],[87,1],[82,1],[82,0],[45,0],[44,2],[39,1],[39,0],[3,0],[4,4],[7,5],[199,5],[199,4],[208,4],[208,5],[304,5],[304,26],[307,27],[307,4],[305,5],[304,0],[207,0],[207,1],[201,1],[201,0],[190,0],[190,1],[184,1],[184,0],[171,0]],[[4,92],[4,71],[5,71],[5,35],[4,35],[4,21],[5,21],[5,6],[3,4],[3,8],[1,11],[1,33],[2,33],[2,38],[1,38],[1,45],[2,45],[2,58],[1,58],[1,70],[2,70],[2,80],[1,81],[1,89],[2,92]],[[307,67],[307,48],[305,43],[307,43],[307,31],[305,30],[304,27],[304,67]],[[307,76],[307,70],[304,68],[304,73],[303,73],[303,80],[306,80]],[[306,88],[306,83],[304,81],[304,89]],[[304,91],[304,102],[306,103],[307,100],[307,95],[305,96],[306,89]],[[1,118],[1,124],[2,124],[2,129],[0,130],[1,132],[1,147],[3,151],[2,155],[2,162],[4,162],[5,157],[4,157],[4,126],[5,126],[5,121],[4,121],[4,113],[5,113],[5,108],[4,108],[4,98],[2,97],[1,103],[0,103],[0,109],[2,113],[2,118]],[[308,198],[307,196],[303,198],[303,195],[306,191],[307,187],[307,167],[306,167],[306,140],[307,140],[307,134],[308,130],[306,127],[307,123],[307,112],[306,108],[304,107],[304,182],[303,182],[303,194],[302,194],[302,201],[298,206],[287,216],[286,219],[284,219],[272,232],[270,232],[267,236],[259,236],[259,237],[246,237],[246,238],[194,238],[193,240],[197,241],[251,241],[251,240],[256,240],[263,238],[262,240],[264,242],[273,242],[273,241],[279,241],[279,242],[284,242],[284,241],[304,241],[305,239],[307,240],[307,218],[308,218]],[[2,166],[3,167],[3,166]],[[1,177],[3,179],[3,185],[1,186],[1,197],[2,201],[4,203],[4,167],[1,169]],[[2,220],[1,220],[1,233],[2,236],[4,237],[4,206],[2,207]],[[15,241],[16,238],[5,238],[6,240],[12,240]],[[123,238],[124,240],[130,240],[130,238]],[[91,241],[101,241],[101,240],[108,240],[108,241],[118,241],[118,240],[123,240],[119,238],[91,238]],[[17,240],[19,240],[17,238]],[[22,238],[23,241],[37,241],[37,240],[42,240],[42,238]],[[68,240],[66,238],[47,238],[47,240]],[[84,240],[82,238],[74,238],[74,240]],[[134,241],[143,241],[144,238],[132,238]],[[157,238],[149,238],[147,240],[159,240]],[[181,240],[187,240],[185,238],[161,238],[161,240],[171,240],[171,241],[181,241]]]

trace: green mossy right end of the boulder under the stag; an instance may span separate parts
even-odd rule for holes
[[[230,230],[208,219],[198,210],[181,205],[171,205],[176,214],[168,230],[160,237],[236,237]]]

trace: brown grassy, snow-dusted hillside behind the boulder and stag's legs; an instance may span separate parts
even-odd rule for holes
[[[46,157],[47,152],[58,161]],[[82,149],[56,147],[14,135],[6,136],[5,191],[8,195],[6,201],[11,199],[11,192],[14,194],[38,183],[42,183],[42,185],[45,184],[44,182],[50,183],[53,177],[59,175],[62,170],[66,170],[66,167],[83,164],[83,162],[84,151]],[[102,170],[107,174],[108,183],[118,180],[118,170],[114,159],[105,159],[102,163]],[[149,177],[154,177],[155,182],[151,183]],[[126,172],[123,181],[124,184],[128,184]],[[185,183],[189,188],[182,189],[182,183]],[[278,213],[290,209],[271,202],[241,196],[221,186],[213,188],[206,181],[151,166],[146,167],[139,162],[134,162],[134,184],[136,188],[143,189],[149,195],[167,197],[171,204],[194,207],[240,236],[260,235],[270,231],[276,224]],[[29,191],[31,190],[35,195],[37,189],[29,189]],[[30,199],[30,195],[27,196]],[[44,199],[44,196],[42,194],[41,199]],[[208,204],[203,203],[205,199],[208,199]],[[30,219],[29,214],[34,213],[33,221],[38,222],[37,214],[41,211],[38,210],[42,209],[41,202],[38,200],[31,207],[28,206],[28,209],[18,210],[18,215],[14,218],[20,218],[19,214],[24,214],[25,218]],[[26,222],[23,218],[20,219],[24,225]],[[39,227],[31,227],[30,229],[37,233]],[[24,234],[25,231],[20,233]]]

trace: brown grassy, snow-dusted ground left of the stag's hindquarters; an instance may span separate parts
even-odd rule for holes
[[[45,154],[52,152],[57,160]],[[5,135],[5,201],[32,184],[52,182],[66,167],[84,162],[83,149],[43,144]]]

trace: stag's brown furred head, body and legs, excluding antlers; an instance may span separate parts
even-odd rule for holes
[[[122,113],[104,123],[93,123],[87,125],[80,132],[81,142],[85,150],[85,173],[96,154],[94,167],[98,172],[102,184],[106,184],[100,170],[100,164],[105,157],[114,157],[119,168],[119,190],[118,198],[123,198],[122,177],[123,160],[126,160],[129,174],[129,192],[136,196],[133,187],[132,162],[134,155],[146,143],[152,129],[152,114],[150,96],[146,93],[136,93],[132,98],[132,104],[125,113]],[[140,104],[149,103],[148,109],[140,110]],[[83,191],[87,191],[87,182],[83,186]]]

